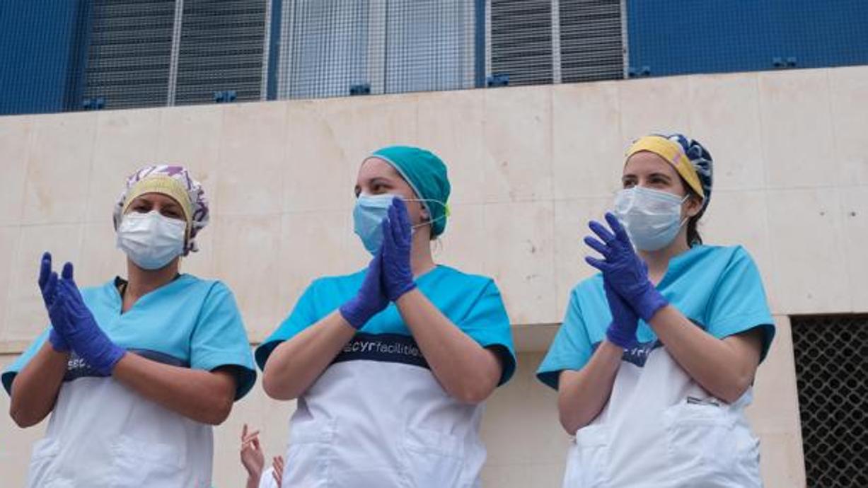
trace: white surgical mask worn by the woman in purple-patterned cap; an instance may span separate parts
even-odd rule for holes
[[[184,252],[187,223],[156,210],[124,215],[117,229],[117,247],[142,269],[160,269]]]

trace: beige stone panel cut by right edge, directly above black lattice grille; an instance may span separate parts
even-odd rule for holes
[[[841,224],[844,256],[850,276],[852,311],[868,312],[868,185],[838,188],[841,194]]]

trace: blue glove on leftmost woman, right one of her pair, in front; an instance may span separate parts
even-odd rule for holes
[[[63,307],[68,319],[56,325],[58,332],[90,367],[109,376],[127,351],[115,345],[96,323],[94,314],[90,313],[82,294],[78,292],[71,263],[63,265],[57,288],[55,306]]]

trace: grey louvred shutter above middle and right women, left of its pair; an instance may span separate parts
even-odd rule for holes
[[[551,0],[491,0],[491,75],[510,85],[554,81]]]

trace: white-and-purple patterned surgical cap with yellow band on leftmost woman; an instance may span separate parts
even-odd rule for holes
[[[182,166],[166,164],[141,168],[127,178],[127,186],[115,203],[113,220],[115,230],[121,225],[123,215],[129,205],[139,196],[146,193],[168,195],[181,205],[184,218],[187,221],[187,242],[184,245],[184,255],[196,252],[196,234],[208,223],[208,201],[205,190],[199,181],[195,181]]]

